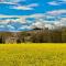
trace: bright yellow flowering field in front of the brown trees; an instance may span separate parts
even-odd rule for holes
[[[0,66],[66,66],[66,44],[0,44]]]

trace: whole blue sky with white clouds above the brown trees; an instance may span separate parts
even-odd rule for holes
[[[59,21],[66,21],[66,0],[0,0],[0,31],[31,30],[42,22]]]

